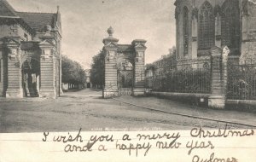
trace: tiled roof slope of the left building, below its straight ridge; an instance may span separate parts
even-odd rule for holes
[[[37,32],[44,30],[46,25],[55,26],[56,14],[17,12],[21,19],[25,20]]]

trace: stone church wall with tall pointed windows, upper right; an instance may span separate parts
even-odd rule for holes
[[[177,0],[177,64],[202,67],[211,49],[230,49],[229,58],[256,58],[255,0]]]

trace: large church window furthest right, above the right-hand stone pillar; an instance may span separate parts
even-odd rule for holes
[[[221,43],[238,48],[240,41],[239,2],[226,0],[222,6]]]

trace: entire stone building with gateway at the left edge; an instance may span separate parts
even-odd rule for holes
[[[0,96],[61,94],[61,14],[17,12],[0,0]]]

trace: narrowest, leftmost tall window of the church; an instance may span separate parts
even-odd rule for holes
[[[184,56],[189,53],[189,9],[183,8],[183,49]]]

